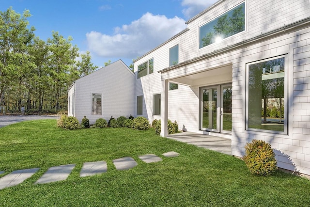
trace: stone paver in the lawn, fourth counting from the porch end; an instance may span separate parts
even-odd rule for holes
[[[105,173],[108,170],[106,161],[85,162],[79,174],[80,177]]]

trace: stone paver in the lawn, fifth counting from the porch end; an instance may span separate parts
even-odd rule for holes
[[[47,170],[47,172],[40,177],[35,184],[44,184],[50,182],[56,182],[65,180],[70,175],[71,171],[75,167],[75,164],[68,164],[68,165],[60,165],[51,167]]]

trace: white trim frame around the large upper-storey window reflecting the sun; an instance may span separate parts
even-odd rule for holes
[[[211,43],[210,45],[207,45],[207,46],[204,46],[204,47],[201,48],[201,47],[200,47],[200,40],[201,40],[202,38],[201,38],[201,36],[200,36],[200,29],[201,29],[204,25],[207,25],[207,24],[211,23],[212,21],[216,20],[217,18],[219,18],[220,16],[229,13],[230,11],[232,11],[233,9],[235,9],[236,7],[240,6],[240,5],[243,4],[243,3],[244,3],[244,31],[242,31],[242,32],[246,32],[246,31],[247,31],[247,3],[246,3],[246,0],[244,0],[244,1],[242,1],[241,3],[239,3],[239,4],[235,5],[235,6],[233,6],[231,9],[229,9],[229,10],[227,10],[227,11],[225,11],[225,12],[219,14],[218,16],[212,18],[211,20],[207,21],[206,23],[204,23],[204,24],[198,26],[198,50],[201,50],[201,49],[203,49],[203,48],[206,48],[206,47],[208,47],[208,46],[210,46],[210,45],[214,45],[215,43],[217,43],[217,42],[214,42],[214,43]],[[238,32],[238,33],[235,33],[235,34],[233,34],[233,35],[231,35],[231,36],[228,36],[228,37],[222,39],[221,42],[224,41],[224,40],[226,40],[226,39],[228,39],[228,38],[231,38],[231,37],[233,37],[233,36],[235,36],[235,35],[237,35],[237,34],[240,34],[240,33],[242,33],[242,32]]]

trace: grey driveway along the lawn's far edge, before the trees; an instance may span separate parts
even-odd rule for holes
[[[17,122],[31,121],[38,119],[58,119],[59,116],[48,116],[48,115],[0,115],[0,127],[5,127],[10,124]]]

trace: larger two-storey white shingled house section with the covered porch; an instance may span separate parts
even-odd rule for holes
[[[237,157],[264,140],[280,168],[310,175],[309,0],[219,0],[186,25],[135,61],[122,115],[231,139]]]

